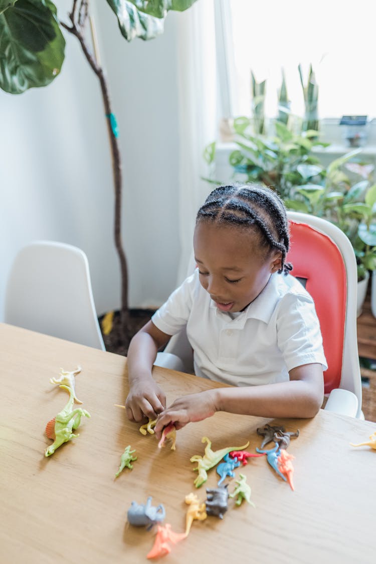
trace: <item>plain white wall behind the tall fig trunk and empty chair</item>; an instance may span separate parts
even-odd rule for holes
[[[175,287],[178,240],[176,18],[163,36],[132,43],[106,2],[96,2],[101,58],[120,129],[123,240],[130,306],[157,306]],[[60,19],[68,10],[57,2]],[[78,41],[51,85],[0,90],[0,321],[12,260],[33,239],[85,250],[98,314],[120,306],[113,243],[113,184],[98,80]],[[41,276],[43,273],[41,272]]]

